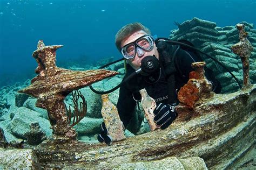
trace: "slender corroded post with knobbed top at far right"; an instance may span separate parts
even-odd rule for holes
[[[251,86],[250,77],[249,77],[249,69],[250,69],[250,62],[249,57],[251,52],[253,51],[253,47],[246,38],[247,32],[245,32],[244,24],[237,24],[237,29],[239,31],[239,39],[240,41],[233,45],[231,48],[235,54],[238,54],[242,61],[242,71],[244,73],[244,81],[242,84],[242,88],[248,88]]]

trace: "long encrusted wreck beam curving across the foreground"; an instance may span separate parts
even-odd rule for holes
[[[125,163],[197,156],[208,168],[224,169],[254,147],[256,111],[252,105],[256,105],[256,85],[216,95],[197,105],[188,118],[180,112],[181,117],[165,130],[126,138],[111,146],[42,143],[35,152],[44,168],[113,168]]]

